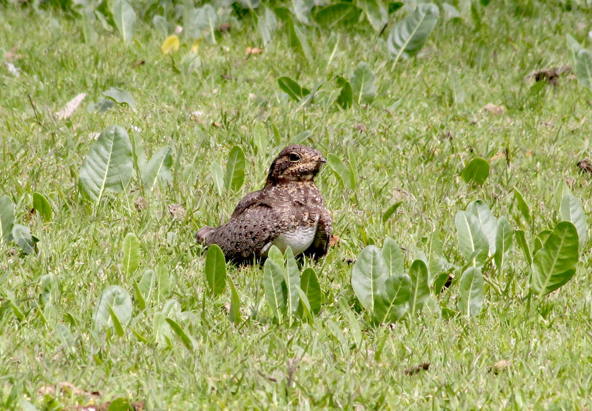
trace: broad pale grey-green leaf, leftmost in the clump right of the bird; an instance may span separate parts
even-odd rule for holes
[[[387,278],[388,268],[380,250],[374,245],[364,248],[353,264],[352,288],[369,314],[372,314],[375,297]]]

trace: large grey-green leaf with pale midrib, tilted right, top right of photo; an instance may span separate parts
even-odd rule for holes
[[[407,15],[388,36],[388,53],[395,63],[402,57],[415,56],[422,49],[427,36],[436,25],[440,11],[435,4],[418,4],[413,13]]]

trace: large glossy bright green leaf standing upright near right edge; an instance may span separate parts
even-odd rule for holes
[[[575,274],[578,232],[570,221],[558,223],[532,260],[532,290],[540,296],[564,285]]]

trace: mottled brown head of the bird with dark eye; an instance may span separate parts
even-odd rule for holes
[[[288,146],[271,163],[267,182],[313,181],[326,162],[321,152],[311,147]]]

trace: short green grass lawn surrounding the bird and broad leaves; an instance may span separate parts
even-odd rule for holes
[[[495,216],[509,217],[514,228],[523,226],[532,240],[558,221],[553,196],[561,178],[570,179],[584,210],[592,209],[590,175],[575,166],[590,157],[590,93],[569,76],[540,91],[525,79],[535,69],[571,65],[565,35],[589,46],[590,14],[531,4],[492,2],[482,9],[478,30],[470,17],[464,23],[440,20],[420,57],[394,68],[385,36],[377,39],[363,27],[331,35],[311,30],[310,64],[287,49],[281,32],[265,53],[247,59],[245,48],[260,46],[259,37],[252,24],[236,23],[218,44],[200,43],[195,73],[182,69],[186,49],[173,55],[181,70],[175,72],[159,50],[163,38],[150,25],[139,23],[129,46],[105,31],[89,46],[76,21],[55,11],[2,6],[0,44],[6,51],[15,48],[11,62],[21,76],[0,66],[0,193],[11,197],[16,221],[40,242],[37,255],[21,256],[14,243],[0,248],[0,407],[20,409],[27,399],[39,410],[60,409],[81,401],[72,394],[52,403],[54,396],[37,393],[69,381],[99,391],[102,400],[142,400],[149,410],[590,408],[589,246],[575,278],[540,301],[525,298],[529,268],[516,250],[499,279],[512,282],[510,292],[500,295],[486,285],[478,316],[446,319],[435,310],[381,327],[359,311],[351,266],[344,261],[391,236],[407,248],[408,266],[414,248],[422,249],[422,239],[437,229],[445,257],[462,266],[454,215],[478,198]],[[145,63],[133,67],[140,60]],[[333,78],[349,78],[361,61],[377,75],[377,99],[368,107],[337,110],[326,102],[339,92]],[[452,98],[451,69],[464,90],[462,103]],[[280,76],[308,88],[324,81],[316,104],[299,109],[282,97]],[[88,113],[87,105],[110,87],[130,92],[136,111]],[[80,92],[88,94],[81,108],[54,123],[49,111],[61,110]],[[487,103],[505,107],[504,113],[488,113]],[[192,119],[195,111],[201,122]],[[149,156],[172,146],[179,165],[173,184],[134,191],[140,187],[136,178],[130,190],[99,208],[83,203],[76,184],[91,133],[111,124],[139,127]],[[270,138],[268,152],[253,149],[257,124]],[[356,130],[356,124],[365,129]],[[313,131],[307,143],[324,153],[347,163],[350,149],[360,177],[354,190],[341,187],[327,167],[318,178],[342,239],[340,248],[314,264],[323,310],[311,326],[276,325],[266,312],[262,269],[229,268],[244,318],[234,327],[225,309],[229,291],[216,300],[206,293],[195,231],[225,221],[244,194],[262,186],[279,150],[307,129]],[[452,139],[442,138],[447,133]],[[233,145],[246,153],[246,179],[238,192],[221,197],[210,163],[224,164]],[[492,160],[481,188],[459,178],[470,159],[490,159],[506,148],[510,162]],[[532,207],[532,226],[513,206],[514,187]],[[53,205],[49,223],[29,213],[34,191]],[[147,207],[137,211],[140,196]],[[396,201],[403,201],[402,213],[383,223],[382,213]],[[170,204],[181,204],[185,216],[173,219]],[[121,244],[129,232],[138,236],[142,258],[140,269],[126,277]],[[194,351],[174,335],[170,342],[142,343],[127,326],[122,338],[94,332],[101,290],[115,284],[133,293],[141,272],[159,264],[170,273],[170,291],[146,312],[135,307],[131,325],[151,338],[155,313],[174,298],[167,308],[183,313],[179,322],[197,341]],[[55,310],[43,309],[49,313],[44,318],[38,301],[47,274],[56,276],[59,287],[50,299]],[[7,293],[14,294],[22,320]],[[453,308],[456,294],[452,288],[436,302]],[[57,324],[70,330],[71,343],[60,338]],[[501,359],[511,365],[491,372]],[[430,362],[429,371],[404,374],[422,362]]]

